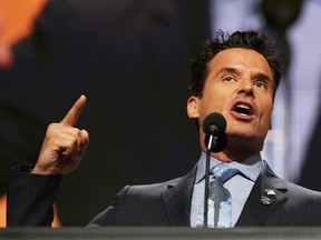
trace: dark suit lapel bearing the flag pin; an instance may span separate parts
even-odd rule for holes
[[[254,183],[235,227],[262,226],[266,218],[286,200],[288,188],[268,163]],[[275,194],[274,194],[275,193]]]

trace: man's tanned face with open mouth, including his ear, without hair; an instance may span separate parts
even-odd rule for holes
[[[273,74],[268,61],[254,50],[233,48],[212,59],[203,97],[191,97],[187,112],[200,120],[203,150],[203,120],[211,112],[221,112],[228,144],[260,152],[271,129],[272,107]]]

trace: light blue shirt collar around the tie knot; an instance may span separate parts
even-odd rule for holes
[[[205,163],[206,163],[206,153],[202,151],[200,161],[197,163],[197,172],[195,178],[195,183],[198,183],[205,176]],[[222,163],[218,159],[211,157],[210,169]],[[251,181],[255,181],[259,174],[263,169],[263,161],[261,154],[251,156],[242,161],[232,161],[228,162],[230,166],[237,168],[246,178]]]

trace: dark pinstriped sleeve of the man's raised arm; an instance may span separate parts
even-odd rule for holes
[[[8,227],[50,227],[61,176],[31,174],[32,166],[10,170]]]

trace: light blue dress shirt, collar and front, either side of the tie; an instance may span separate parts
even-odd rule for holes
[[[197,163],[197,172],[192,197],[191,227],[193,228],[196,227],[200,208],[204,201],[205,163],[206,153],[202,152],[201,159]],[[210,169],[218,163],[221,163],[220,160],[211,158]],[[224,183],[224,187],[232,196],[232,226],[234,227],[264,163],[261,154],[255,154],[242,161],[232,161],[228,164],[237,168],[240,172],[242,172],[242,174],[236,174]]]

